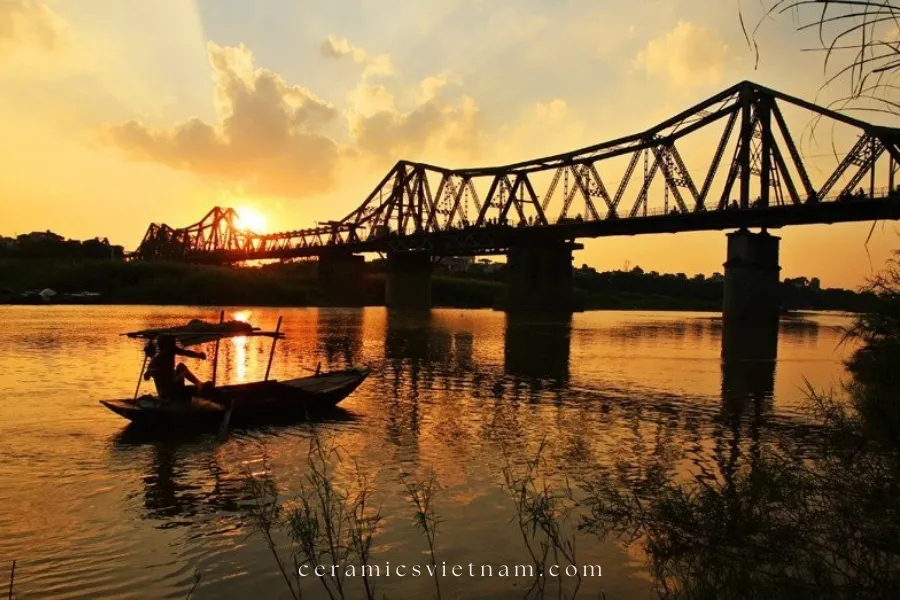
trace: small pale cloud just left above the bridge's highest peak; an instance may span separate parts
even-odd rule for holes
[[[650,40],[634,65],[677,86],[715,84],[722,79],[728,54],[728,46],[715,32],[679,21],[673,30]]]

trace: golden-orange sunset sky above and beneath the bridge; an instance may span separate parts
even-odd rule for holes
[[[151,221],[186,225],[216,204],[296,229],[349,213],[399,158],[566,151],[743,79],[816,98],[822,57],[803,52],[815,36],[789,16],[766,24],[755,67],[738,4],[5,0],[0,234],[133,248]],[[780,231],[783,276],[861,284],[898,246],[890,223],[866,246],[870,228]],[[601,270],[711,273],[725,259],[723,233],[585,246],[576,264]]]

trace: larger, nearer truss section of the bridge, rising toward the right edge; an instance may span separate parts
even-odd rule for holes
[[[852,140],[824,177],[827,161],[798,146],[811,120]],[[744,82],[644,132],[570,153],[475,169],[401,161],[343,222],[406,235],[815,204],[862,197],[860,188],[873,198],[894,189],[898,139],[896,129]]]

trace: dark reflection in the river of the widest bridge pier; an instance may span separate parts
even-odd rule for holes
[[[569,380],[572,347],[572,315],[535,319],[507,313],[503,344],[503,369],[522,379]]]

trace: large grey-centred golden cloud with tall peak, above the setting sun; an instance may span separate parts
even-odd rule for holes
[[[322,128],[337,111],[309,90],[256,68],[245,46],[208,44],[220,122],[156,131],[130,121],[108,141],[130,157],[229,181],[248,192],[307,196],[334,183],[339,148]]]

